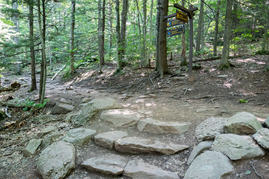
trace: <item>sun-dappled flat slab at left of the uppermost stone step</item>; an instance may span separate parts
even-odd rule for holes
[[[100,119],[111,122],[117,127],[133,126],[142,117],[142,114],[129,109],[107,110],[100,115]]]

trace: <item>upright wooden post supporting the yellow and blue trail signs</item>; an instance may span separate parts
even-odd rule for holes
[[[192,5],[189,6],[189,10]],[[194,82],[194,73],[192,72],[192,54],[193,54],[193,15],[190,13],[190,54],[189,54],[189,82]]]

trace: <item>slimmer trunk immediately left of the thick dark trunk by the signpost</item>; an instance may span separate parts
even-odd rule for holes
[[[159,29],[160,29],[161,0],[157,0],[156,42],[155,42],[155,71],[159,70]]]

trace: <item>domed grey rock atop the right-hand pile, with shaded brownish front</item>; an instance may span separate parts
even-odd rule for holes
[[[253,114],[249,112],[238,112],[225,124],[225,133],[232,134],[255,134],[262,125]]]

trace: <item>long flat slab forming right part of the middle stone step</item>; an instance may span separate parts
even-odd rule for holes
[[[174,143],[162,143],[139,137],[126,137],[115,142],[115,149],[127,153],[159,152],[166,155],[175,154],[188,149],[189,146]]]

